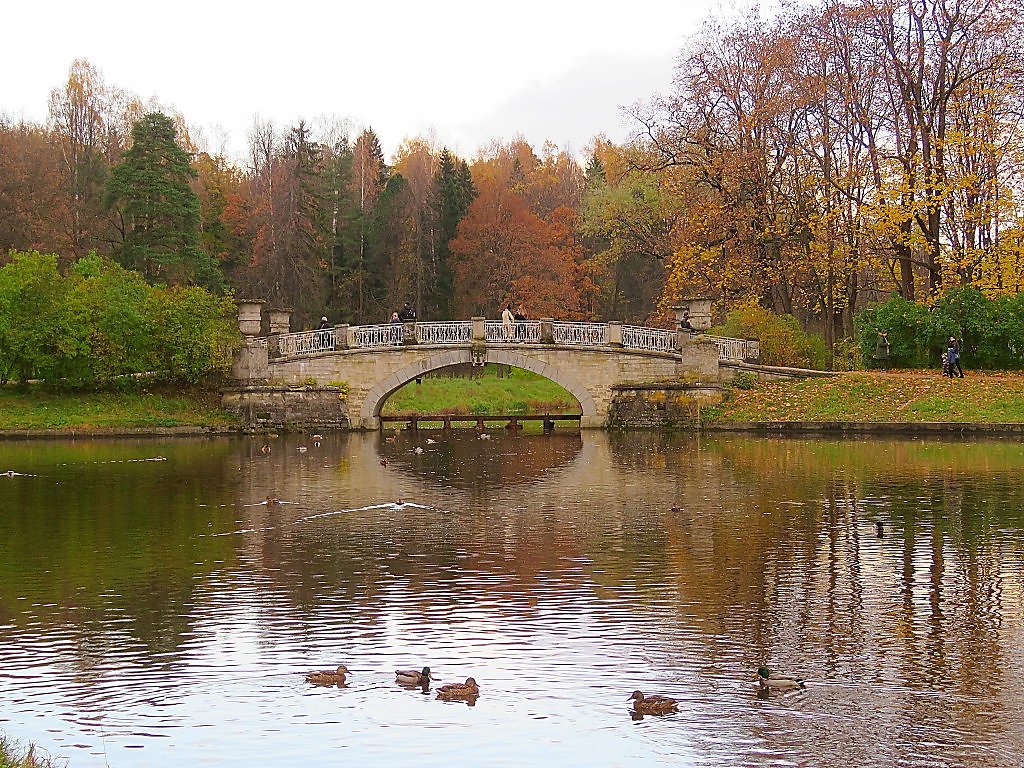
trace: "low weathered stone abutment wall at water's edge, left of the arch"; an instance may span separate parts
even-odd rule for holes
[[[225,411],[249,429],[347,429],[347,396],[340,387],[250,386],[225,390]]]

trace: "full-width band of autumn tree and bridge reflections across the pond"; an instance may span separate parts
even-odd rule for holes
[[[727,647],[736,668],[784,659],[900,691],[953,686],[957,700],[1011,689],[1020,445],[549,437],[423,454],[377,435],[282,438],[269,456],[200,443],[144,472],[71,472],[74,503],[67,485],[0,484],[16,510],[0,521],[0,620],[71,625],[85,671],[126,642],[180,657],[202,621],[258,615],[300,645],[358,623],[387,642],[396,596],[414,614],[485,604],[517,623],[554,603],[642,627],[680,668],[699,638],[709,666]],[[257,504],[270,494],[293,504]],[[380,506],[399,497],[423,506]],[[1006,722],[930,701],[906,695],[893,717],[928,708],[984,738]]]

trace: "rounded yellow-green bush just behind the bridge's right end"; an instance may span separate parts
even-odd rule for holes
[[[824,369],[828,365],[824,339],[805,333],[792,314],[775,314],[757,306],[736,309],[713,333],[760,340],[759,361],[766,366]]]

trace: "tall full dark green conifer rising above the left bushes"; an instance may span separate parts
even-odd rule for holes
[[[200,248],[200,202],[189,185],[196,175],[174,122],[159,112],[135,123],[131,148],[111,171],[106,204],[122,233],[115,255],[151,283],[223,285],[216,262]]]

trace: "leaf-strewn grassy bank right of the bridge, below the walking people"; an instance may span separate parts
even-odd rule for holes
[[[947,379],[936,372],[849,373],[827,379],[732,387],[716,422],[1024,422],[1024,374],[968,372]]]

